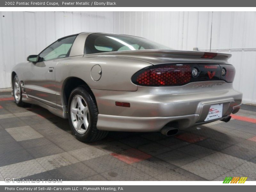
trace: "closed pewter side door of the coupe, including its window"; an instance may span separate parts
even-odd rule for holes
[[[69,56],[75,38],[68,36],[58,39],[38,55],[37,62],[29,62],[24,73],[28,97],[56,106],[55,67],[60,60]]]

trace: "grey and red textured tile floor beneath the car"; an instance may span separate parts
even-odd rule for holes
[[[173,137],[110,132],[83,143],[68,120],[35,105],[17,107],[9,94],[0,93],[0,180],[256,180],[256,107]]]

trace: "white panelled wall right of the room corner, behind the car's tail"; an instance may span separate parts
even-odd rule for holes
[[[232,54],[234,87],[244,103],[256,104],[256,12],[115,12],[114,31],[174,49]]]

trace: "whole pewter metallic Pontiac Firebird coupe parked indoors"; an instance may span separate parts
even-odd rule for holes
[[[145,38],[80,33],[58,39],[12,70],[18,106],[68,118],[78,140],[108,131],[157,132],[216,120],[241,105],[229,54],[175,51]]]

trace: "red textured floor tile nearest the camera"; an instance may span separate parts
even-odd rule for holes
[[[134,148],[124,150],[121,153],[111,153],[110,155],[116,157],[117,159],[127,164],[140,162],[152,157],[151,155],[148,155],[147,153],[144,153]]]

